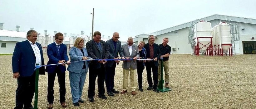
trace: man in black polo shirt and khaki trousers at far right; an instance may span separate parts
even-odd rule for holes
[[[167,45],[169,42],[168,38],[163,39],[163,43],[159,45],[161,51],[161,57],[163,57],[163,66],[165,70],[165,88],[170,88],[169,86],[169,56],[171,54],[171,47]],[[161,79],[161,60],[158,60],[158,84]]]

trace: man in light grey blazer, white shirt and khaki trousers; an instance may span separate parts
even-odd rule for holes
[[[124,56],[122,59],[127,59],[123,62],[123,89],[121,93],[127,92],[128,87],[128,76],[130,71],[130,84],[131,84],[131,93],[135,95],[135,73],[137,69],[136,60],[140,57],[138,46],[133,44],[133,38],[129,37],[127,40],[128,43],[122,45],[122,51]],[[130,60],[133,59],[133,60]]]

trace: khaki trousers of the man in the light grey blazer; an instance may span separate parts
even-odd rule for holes
[[[135,72],[136,69],[123,69],[123,89],[122,90],[127,90],[128,87],[128,76],[129,76],[129,71],[130,71],[130,84],[131,84],[131,91],[135,91],[136,88],[136,83],[135,83]]]

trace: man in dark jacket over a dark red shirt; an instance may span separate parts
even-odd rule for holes
[[[148,40],[149,40],[149,43],[145,44],[145,46],[144,46],[144,48],[147,51],[146,58],[154,59],[154,61],[147,61],[145,63],[146,70],[147,70],[148,84],[149,84],[148,90],[153,88],[153,90],[155,92],[159,93],[159,90],[157,89],[157,83],[158,83],[158,77],[157,77],[158,61],[157,60],[160,58],[161,52],[160,52],[159,46],[156,43],[154,43],[155,42],[154,35],[149,35]],[[152,83],[151,69],[152,69],[152,73],[153,73],[154,85]]]

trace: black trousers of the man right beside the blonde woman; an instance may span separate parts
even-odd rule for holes
[[[105,93],[104,81],[105,81],[106,67],[101,65],[101,68],[89,68],[89,86],[88,86],[88,98],[95,96],[95,81],[98,76],[98,90],[99,96],[103,96]]]

